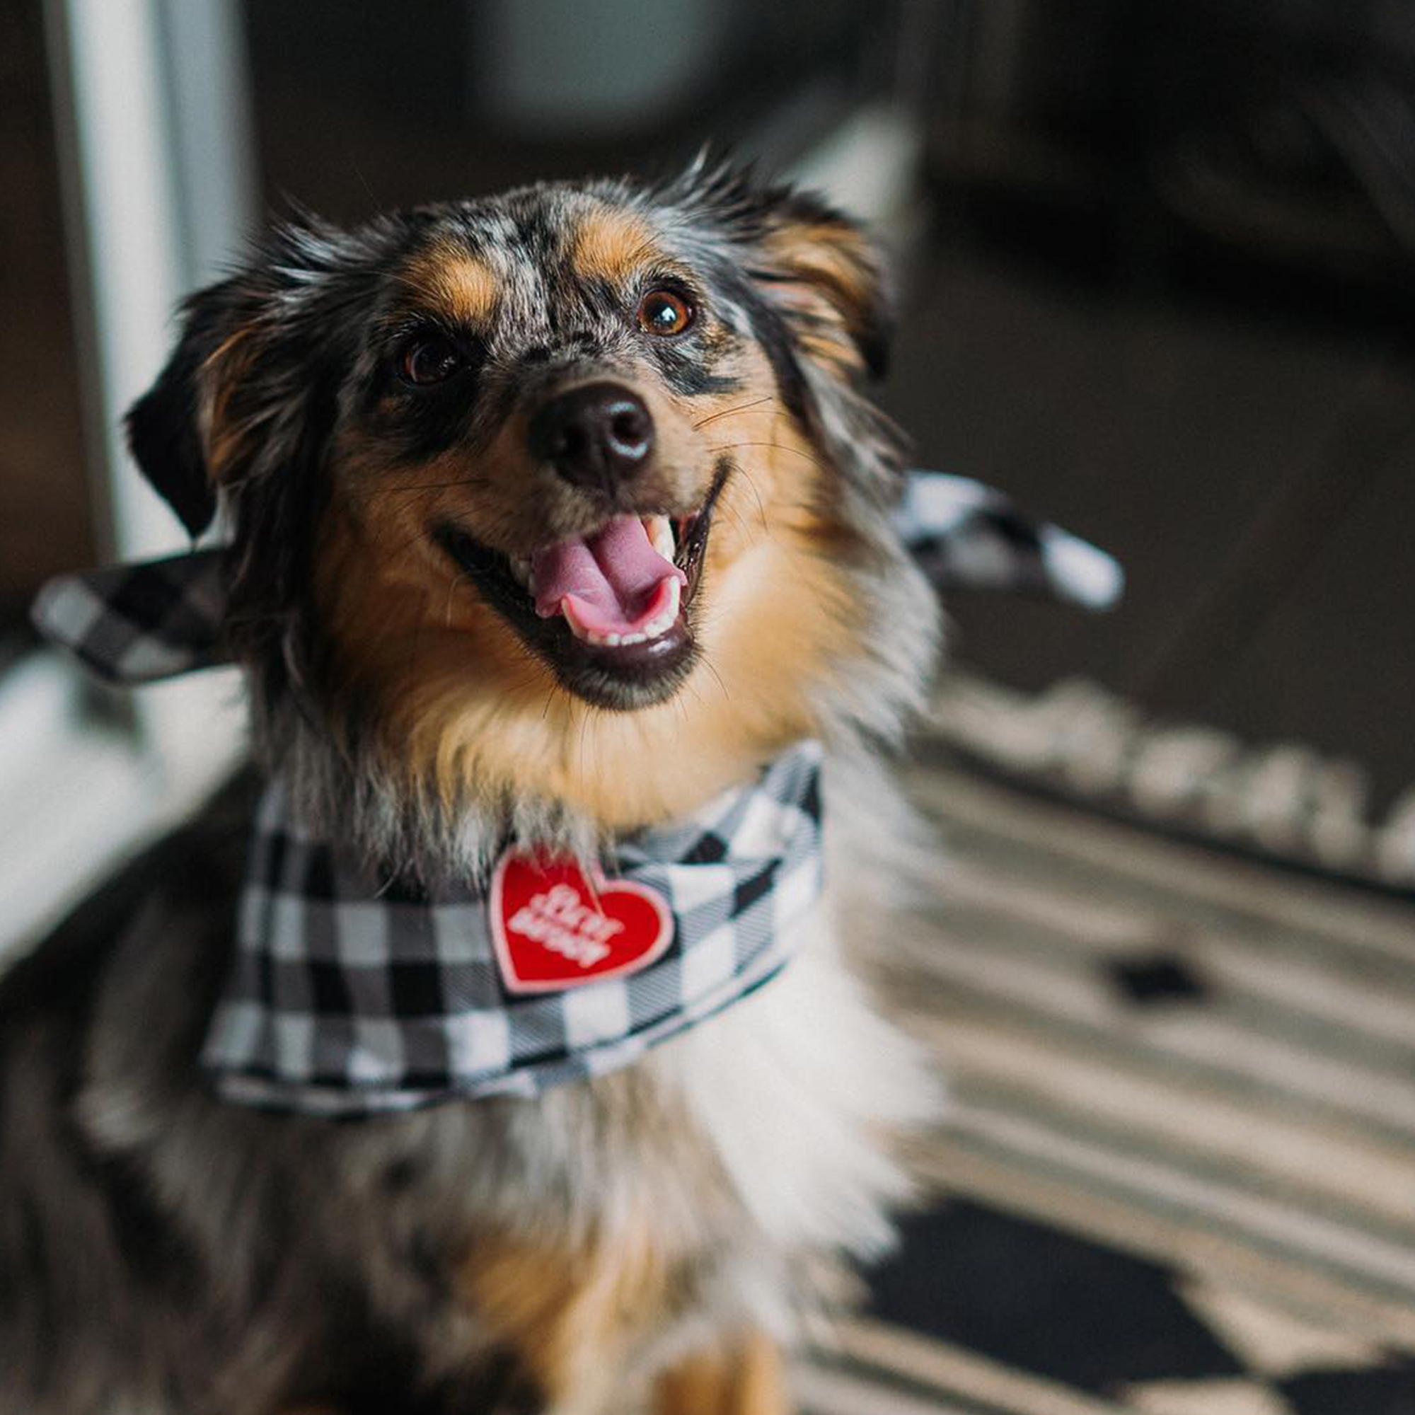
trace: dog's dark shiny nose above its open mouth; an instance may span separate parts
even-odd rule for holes
[[[623,383],[584,383],[536,409],[529,443],[566,481],[608,492],[648,463],[654,419]]]

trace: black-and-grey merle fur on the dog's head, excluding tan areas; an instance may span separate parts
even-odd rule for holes
[[[541,184],[381,216],[351,232],[308,215],[276,228],[239,273],[187,301],[178,345],[153,391],[132,409],[129,432],[144,474],[188,529],[200,532],[216,505],[214,468],[194,432],[201,379],[216,351],[245,331],[248,366],[224,416],[253,432],[235,464],[219,468],[219,494],[231,525],[228,637],[248,671],[256,750],[266,763],[283,764],[316,824],[350,822],[352,802],[352,831],[365,852],[400,869],[451,865],[466,857],[468,843],[475,853],[478,841],[501,839],[502,828],[481,829],[460,807],[443,809],[430,790],[410,794],[403,782],[381,777],[364,750],[366,723],[357,703],[331,722],[338,708],[320,693],[310,559],[328,495],[328,449],[337,427],[357,426],[416,474],[420,460],[453,446],[474,456],[516,398],[533,396],[567,368],[589,361],[613,366],[617,350],[634,338],[623,299],[599,282],[573,279],[569,269],[563,209],[584,194],[674,232],[665,243],[691,275],[675,270],[671,283],[716,311],[708,327],[651,342],[664,378],[686,395],[719,391],[715,345],[720,354],[740,340],[756,341],[782,403],[839,470],[825,492],[848,504],[848,518],[886,566],[897,558],[882,515],[900,488],[893,424],[869,400],[863,381],[852,388],[802,357],[799,340],[811,333],[812,317],[775,297],[792,272],[768,256],[774,233],[792,225],[853,229],[819,198],[760,184],[730,164],[695,164],[657,185]],[[515,308],[498,316],[490,345],[477,338],[463,372],[443,385],[409,388],[395,374],[410,330],[389,270],[434,239],[473,255],[509,252],[516,269],[541,283],[509,283],[504,304]],[[890,328],[889,287],[870,266],[859,272],[857,289],[866,299],[841,300],[839,307],[866,371],[877,372]],[[860,569],[869,593],[879,565]],[[608,700],[614,685],[604,689]],[[628,693],[625,706],[641,700]],[[344,750],[331,750],[331,741]],[[516,825],[563,835],[556,816],[546,802],[539,819]]]

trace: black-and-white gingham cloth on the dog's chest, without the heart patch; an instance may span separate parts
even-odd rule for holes
[[[480,893],[362,873],[276,781],[204,1064],[226,1099],[316,1115],[535,1095],[627,1065],[790,958],[821,893],[819,764],[799,743],[756,784],[621,841],[606,873],[668,901],[674,942],[640,972],[535,996],[502,986]]]

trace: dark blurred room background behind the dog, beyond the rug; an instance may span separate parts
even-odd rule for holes
[[[954,606],[959,658],[1026,689],[1091,675],[1152,712],[1354,757],[1377,809],[1415,782],[1405,0],[724,0],[696,27],[691,6],[597,8],[618,28],[582,71],[552,52],[552,96],[664,82],[586,119],[508,105],[504,6],[249,0],[266,202],[357,219],[668,166],[708,139],[784,163],[893,100],[924,160],[886,405],[921,464],[1005,487],[1129,572],[1101,618]],[[38,579],[102,536],[38,0],[0,11],[0,79],[13,654]]]

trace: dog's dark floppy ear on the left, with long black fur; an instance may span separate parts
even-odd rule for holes
[[[310,546],[341,371],[366,300],[358,233],[301,215],[194,294],[151,391],[127,415],[149,481],[197,535],[229,519],[225,634],[263,710],[300,678]]]

